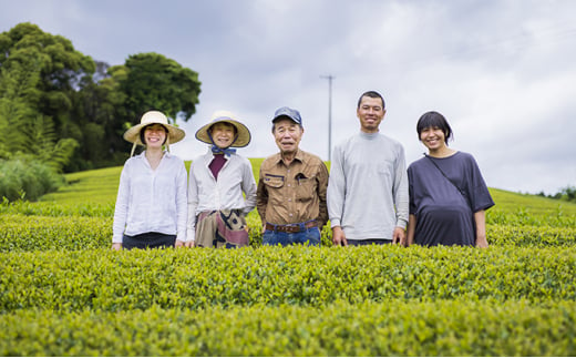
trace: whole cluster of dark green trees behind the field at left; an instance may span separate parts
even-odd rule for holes
[[[199,93],[198,73],[162,54],[110,65],[62,35],[17,24],[0,34],[0,197],[2,186],[13,186],[7,176],[19,167],[14,162],[53,173],[123,164],[130,144],[122,134],[144,112],[186,122]]]

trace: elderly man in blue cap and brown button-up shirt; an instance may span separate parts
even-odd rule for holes
[[[298,147],[304,134],[298,111],[278,109],[272,134],[280,152],[261,163],[256,195],[263,244],[320,245],[320,229],[328,221],[328,168],[318,156]]]

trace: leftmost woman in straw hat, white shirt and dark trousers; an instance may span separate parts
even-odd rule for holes
[[[183,246],[186,242],[186,167],[169,154],[169,144],[184,139],[158,111],[144,113],[124,139],[145,151],[124,164],[114,212],[112,248]],[[164,151],[164,146],[167,151]]]

